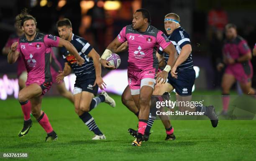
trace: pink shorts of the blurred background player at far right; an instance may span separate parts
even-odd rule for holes
[[[244,64],[237,63],[227,66],[225,73],[233,75],[236,80],[238,80],[238,82],[246,84],[251,82],[251,78],[253,76],[253,68],[251,62]]]

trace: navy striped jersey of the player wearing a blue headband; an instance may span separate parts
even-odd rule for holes
[[[168,38],[176,48],[178,55],[180,54],[180,51],[184,45],[190,44],[189,34],[182,27],[176,28],[172,32],[172,34],[168,36]],[[158,53],[161,55],[164,54],[164,60],[165,60],[165,63],[167,64],[169,54],[165,53],[161,47],[159,47]],[[191,70],[193,69],[193,66],[194,65],[192,61],[192,54],[190,53],[187,60],[185,60],[182,64],[180,64],[177,67],[176,71],[182,72],[186,70]]]

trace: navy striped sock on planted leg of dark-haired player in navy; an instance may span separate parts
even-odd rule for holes
[[[79,118],[84,122],[85,125],[87,125],[90,131],[95,133],[95,135],[103,135],[89,112],[84,112],[79,116]]]

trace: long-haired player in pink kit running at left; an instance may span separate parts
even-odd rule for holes
[[[55,141],[57,135],[51,127],[46,113],[41,110],[43,95],[52,84],[50,72],[51,47],[65,47],[74,54],[79,65],[84,63],[84,59],[79,56],[77,50],[68,41],[56,36],[37,33],[36,19],[29,15],[26,10],[23,10],[17,16],[16,24],[24,31],[24,36],[18,42],[12,44],[8,53],[8,63],[15,63],[21,55],[28,72],[26,87],[21,89],[18,94],[18,101],[24,114],[24,125],[19,136],[26,135],[31,128],[30,113],[32,113],[47,133],[45,141]],[[37,48],[37,44],[39,44],[39,48]]]

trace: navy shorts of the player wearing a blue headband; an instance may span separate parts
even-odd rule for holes
[[[188,70],[178,72],[178,78],[173,78],[171,73],[168,75],[168,83],[172,84],[175,91],[180,96],[190,96],[192,95],[192,87],[195,83],[195,70]]]

